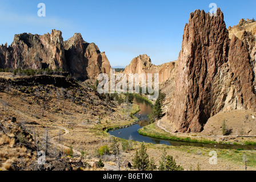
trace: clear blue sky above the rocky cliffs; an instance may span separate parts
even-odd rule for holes
[[[38,16],[39,3],[45,3],[46,16]],[[142,54],[159,65],[178,59],[190,13],[208,13],[210,3],[221,8],[227,27],[256,18],[255,0],[0,0],[0,44],[10,45],[23,32],[43,35],[56,29],[64,40],[79,32],[106,52],[112,67],[125,67]]]

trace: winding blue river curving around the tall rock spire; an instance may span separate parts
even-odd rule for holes
[[[130,137],[138,142],[153,143],[153,144],[166,144],[167,146],[194,146],[194,147],[207,147],[207,148],[222,148],[222,149],[241,149],[243,150],[255,150],[256,146],[242,146],[234,144],[203,144],[203,143],[193,143],[193,142],[182,142],[175,140],[164,140],[153,137],[145,137],[138,133],[138,130],[144,126],[150,124],[147,115],[151,113],[151,105],[140,98],[134,99],[135,104],[139,105],[141,111],[139,111],[134,116],[139,119],[138,124],[126,127],[123,129],[109,131],[109,133],[115,137],[129,139]]]

